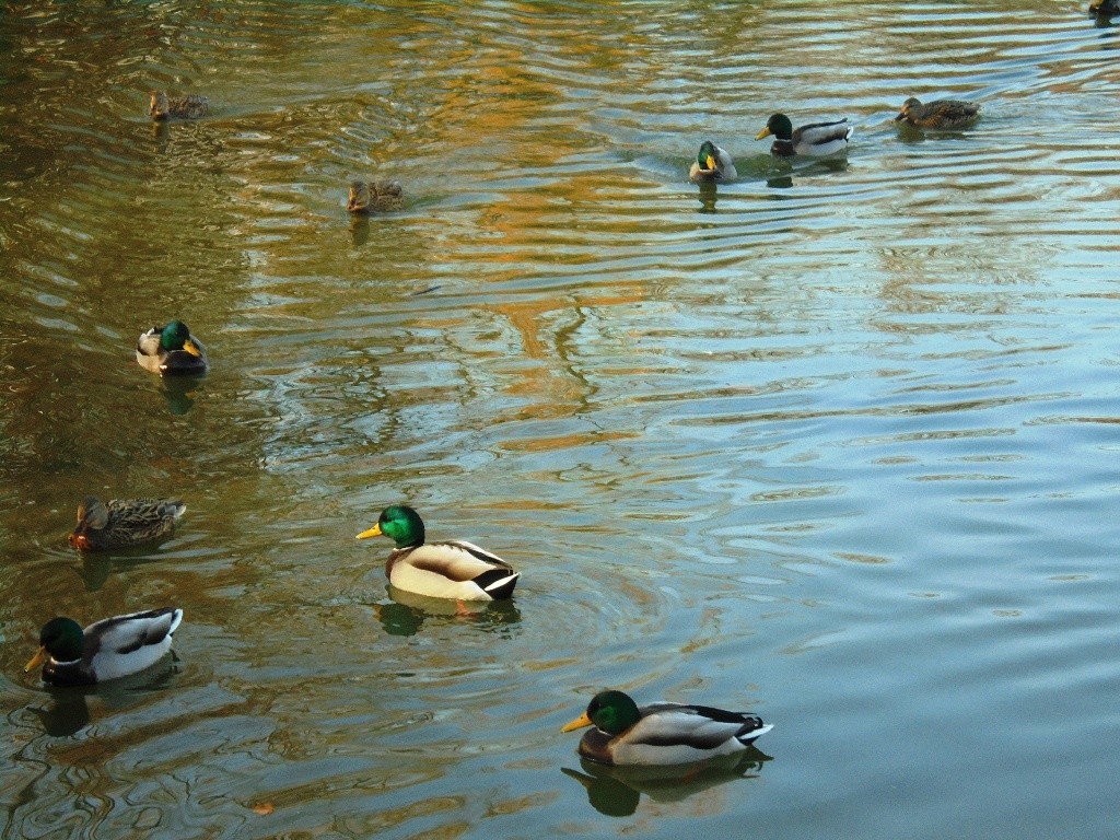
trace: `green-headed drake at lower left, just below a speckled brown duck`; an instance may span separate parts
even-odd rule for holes
[[[39,632],[39,652],[24,671],[47,660],[43,681],[50,685],[90,685],[128,676],[155,665],[171,650],[171,634],[181,620],[183,610],[175,607],[103,618],[84,631],[73,618],[52,618]]]

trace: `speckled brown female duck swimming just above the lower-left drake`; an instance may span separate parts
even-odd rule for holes
[[[113,498],[109,504],[86,496],[77,506],[72,548],[84,551],[121,549],[166,536],[187,510],[168,498]]]

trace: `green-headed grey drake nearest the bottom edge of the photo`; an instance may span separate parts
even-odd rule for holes
[[[690,764],[746,749],[773,727],[756,715],[710,706],[657,702],[638,708],[622,691],[596,694],[561,731],[594,726],[579,754],[601,764]]]

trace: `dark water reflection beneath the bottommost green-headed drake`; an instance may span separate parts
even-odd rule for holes
[[[750,747],[746,753],[697,764],[625,767],[580,758],[582,773],[568,767],[560,771],[584,785],[591,808],[607,816],[629,816],[637,811],[643,793],[655,802],[674,803],[708,792],[711,801],[703,812],[710,814],[725,810],[713,788],[735,780],[756,778],[763,764],[771,758],[757,747]]]

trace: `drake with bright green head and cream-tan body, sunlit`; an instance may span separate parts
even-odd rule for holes
[[[402,591],[429,598],[502,600],[513,595],[521,577],[505,560],[474,543],[426,543],[423,520],[408,505],[390,505],[357,539],[382,534],[396,543],[385,562],[385,576]]]

